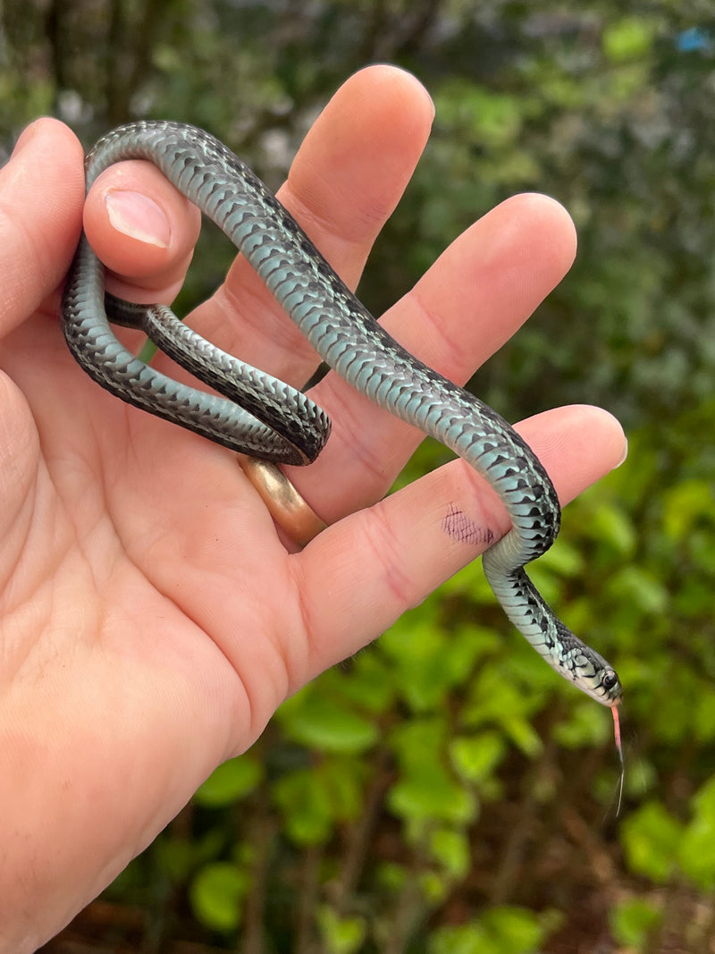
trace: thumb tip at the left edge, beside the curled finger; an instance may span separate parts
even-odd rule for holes
[[[79,239],[83,198],[79,141],[63,123],[38,119],[0,170],[0,334],[58,289]]]

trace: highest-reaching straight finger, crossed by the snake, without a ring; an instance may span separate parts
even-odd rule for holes
[[[429,96],[409,73],[382,66],[356,73],[317,118],[278,192],[352,287],[412,176],[433,115]],[[312,348],[243,259],[191,323],[291,384],[303,384],[315,369]]]

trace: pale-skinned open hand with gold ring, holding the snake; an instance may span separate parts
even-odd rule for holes
[[[432,118],[413,77],[371,68],[296,156],[280,197],[352,286]],[[297,552],[235,455],[127,407],[72,361],[57,309],[83,207],[111,290],[133,301],[173,299],[199,227],[145,163],[112,168],[85,204],[81,147],[54,120],[33,124],[0,171],[0,951],[13,954],[69,922],[287,695],[479,555],[442,529],[450,506],[497,537],[509,528],[460,461],[381,500],[420,434],[330,375],[314,396],[333,435],[315,465],[290,471],[330,527]],[[462,383],[575,247],[559,204],[515,197],[383,321]],[[316,366],[245,263],[191,323],[291,384]],[[598,408],[518,429],[562,503],[623,460],[623,431]]]

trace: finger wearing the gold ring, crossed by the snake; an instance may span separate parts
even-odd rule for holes
[[[575,246],[561,205],[514,197],[456,239],[381,323],[421,361],[463,384],[562,280]],[[335,374],[311,396],[330,414],[333,432],[312,467],[291,468],[291,480],[333,523],[383,496],[423,435]]]

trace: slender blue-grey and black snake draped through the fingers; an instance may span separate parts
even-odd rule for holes
[[[552,545],[561,508],[544,467],[514,428],[392,338],[275,195],[213,135],[161,120],[120,126],[87,156],[88,191],[100,173],[124,159],[153,162],[215,222],[343,381],[449,447],[493,487],[512,524],[482,555],[501,607],[553,669],[615,707],[623,695],[618,674],[559,619],[524,570]],[[221,351],[166,305],[137,305],[108,294],[104,265],[84,235],[61,317],[77,363],[128,404],[276,465],[310,464],[328,439],[329,418],[300,390]],[[112,324],[144,331],[211,392],[175,382],[141,361],[119,342]]]

